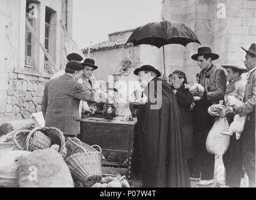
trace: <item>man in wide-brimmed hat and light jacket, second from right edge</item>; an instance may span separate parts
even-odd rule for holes
[[[240,101],[243,101],[245,96],[245,81],[242,80],[241,75],[248,73],[248,69],[240,66],[225,64],[222,65],[227,71],[227,81],[229,82],[225,95],[224,105],[228,105],[228,96],[235,96]],[[228,123],[233,122],[234,114],[227,108],[220,113],[221,117],[227,117]],[[221,187],[240,187],[243,164],[242,164],[242,140],[236,138],[233,134],[230,138],[230,146],[227,152],[222,156],[223,164],[225,166],[225,183],[220,183]]]

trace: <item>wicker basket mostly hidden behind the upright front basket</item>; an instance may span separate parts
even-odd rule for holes
[[[74,153],[83,153],[84,151],[82,150],[82,148],[77,148],[82,146],[82,148],[86,149],[88,152],[98,152],[95,148],[100,149],[100,153],[101,153],[101,148],[100,146],[94,144],[92,146],[83,143],[82,141],[80,141],[80,139],[78,138],[67,138],[66,140],[66,148],[67,148],[67,157],[71,156]],[[74,151],[75,150],[75,151]],[[101,154],[102,159],[105,159],[105,157]]]

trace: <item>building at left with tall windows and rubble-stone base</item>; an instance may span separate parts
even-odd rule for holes
[[[0,1],[0,121],[28,119],[41,111],[50,62],[66,64],[65,39],[72,36],[72,0]],[[26,26],[26,19],[36,36]]]

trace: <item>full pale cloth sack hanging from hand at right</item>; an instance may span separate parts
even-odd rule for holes
[[[229,125],[227,118],[220,118],[213,124],[206,139],[206,149],[209,153],[222,156],[228,150],[230,136],[221,134],[228,131]]]

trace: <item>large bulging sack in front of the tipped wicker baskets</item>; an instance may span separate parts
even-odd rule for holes
[[[55,149],[43,149],[21,156],[19,187],[73,187],[67,164]]]

